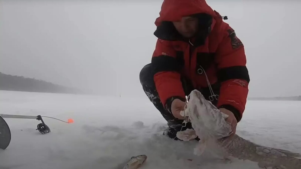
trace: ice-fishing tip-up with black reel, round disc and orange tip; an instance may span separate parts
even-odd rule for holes
[[[6,114],[0,114],[0,149],[6,149],[6,147],[9,145],[11,141],[11,131],[7,125],[7,123],[4,121],[3,118],[27,118],[27,119],[37,119],[41,120],[42,123],[38,124],[37,129],[42,134],[47,134],[50,132],[50,128],[45,124],[42,117],[47,116],[29,116],[29,115],[6,115]],[[47,117],[47,118],[53,118],[53,117]],[[57,118],[53,118],[59,121],[63,121]],[[68,121],[63,121],[65,123],[73,123],[73,119],[68,119]]]

